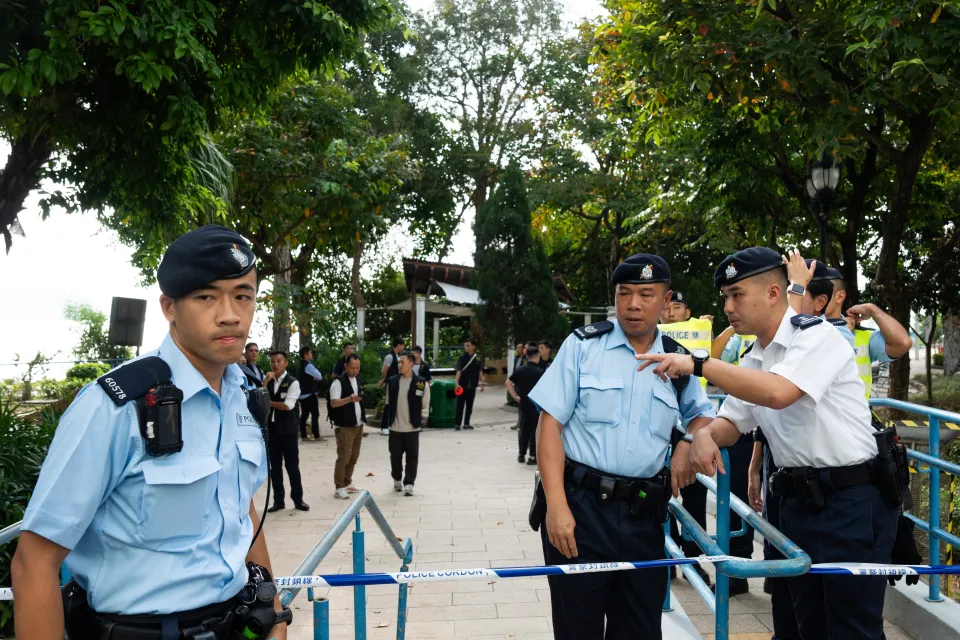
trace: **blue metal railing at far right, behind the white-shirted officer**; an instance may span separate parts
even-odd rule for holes
[[[922,462],[927,467],[920,468],[917,465],[918,473],[927,473],[930,475],[929,483],[929,505],[927,519],[921,520],[913,513],[907,513],[906,516],[917,525],[921,531],[925,531],[929,536],[930,564],[940,564],[940,541],[947,544],[960,546],[960,538],[949,531],[940,528],[940,472],[960,476],[960,466],[940,459],[940,421],[960,422],[960,414],[950,411],[943,411],[934,407],[925,407],[912,402],[903,402],[901,400],[891,400],[889,398],[871,398],[872,407],[890,407],[900,411],[908,411],[923,416],[927,416],[930,422],[930,455],[920,453],[919,451],[907,450],[907,456]],[[930,602],[940,602],[943,597],[940,595],[940,576],[931,575],[929,582],[930,593],[927,594],[927,600]]]

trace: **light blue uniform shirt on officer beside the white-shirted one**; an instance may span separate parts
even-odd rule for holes
[[[677,402],[673,384],[654,375],[654,365],[637,371],[636,351],[613,324],[598,338],[567,337],[530,399],[564,425],[563,449],[571,460],[650,478],[663,468],[678,421],[686,429],[716,411],[695,378]],[[650,351],[664,352],[659,330]]]

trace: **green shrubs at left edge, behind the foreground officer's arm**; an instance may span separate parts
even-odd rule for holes
[[[59,419],[58,411],[15,414],[13,405],[0,397],[0,523],[23,519]],[[16,542],[0,546],[0,584],[10,584],[16,548]],[[0,636],[13,637],[12,602],[0,602]]]

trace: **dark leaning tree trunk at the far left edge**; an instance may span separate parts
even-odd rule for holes
[[[46,135],[26,135],[10,149],[7,166],[0,173],[0,234],[8,253],[13,245],[12,233],[19,229],[17,216],[23,211],[23,202],[40,185],[39,171],[52,152]]]

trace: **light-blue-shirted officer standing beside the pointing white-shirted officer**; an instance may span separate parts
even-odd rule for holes
[[[531,523],[544,525],[547,564],[664,558],[671,433],[678,424],[706,424],[715,415],[689,376],[671,383],[637,372],[638,353],[686,353],[657,330],[671,295],[667,263],[631,256],[611,284],[616,319],[574,331],[529,396],[543,410],[537,461],[546,513],[545,522],[532,513]],[[677,458],[687,466],[688,445],[680,447]],[[689,470],[682,475],[692,477]],[[677,482],[672,488],[676,494]],[[556,638],[661,637],[662,569],[548,580]]]

